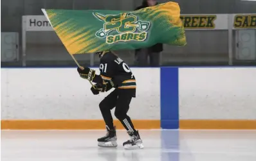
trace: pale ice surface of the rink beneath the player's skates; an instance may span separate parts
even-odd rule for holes
[[[256,131],[140,130],[144,149],[100,148],[95,131],[1,131],[2,161],[256,161]]]

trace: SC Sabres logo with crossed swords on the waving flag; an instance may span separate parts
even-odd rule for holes
[[[93,13],[100,21],[104,21],[103,28],[95,35],[105,38],[107,44],[127,41],[144,41],[147,38],[147,30],[151,25],[148,21],[138,21],[138,17],[131,13],[118,15],[102,15]]]

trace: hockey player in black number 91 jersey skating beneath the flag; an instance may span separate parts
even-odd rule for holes
[[[107,97],[100,102],[100,111],[105,121],[107,135],[98,139],[98,146],[116,147],[116,130],[113,124],[111,110],[115,108],[114,115],[123,124],[131,140],[123,142],[125,149],[143,148],[142,140],[135,130],[130,117],[127,115],[132,97],[136,95],[136,80],[131,69],[121,58],[110,51],[96,53],[100,56],[100,75],[95,70],[84,67],[77,68],[80,77],[96,83],[91,87],[93,94],[107,92],[114,88]]]

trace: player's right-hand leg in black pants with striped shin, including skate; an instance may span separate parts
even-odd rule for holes
[[[118,99],[114,111],[114,115],[123,124],[123,127],[131,137],[131,140],[123,142],[123,147],[125,149],[143,148],[142,139],[140,139],[138,131],[134,128],[131,118],[127,115],[134,90],[135,89],[118,89]]]

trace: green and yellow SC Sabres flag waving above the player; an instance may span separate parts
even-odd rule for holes
[[[157,43],[185,46],[178,3],[136,11],[44,10],[69,54],[139,49]]]

